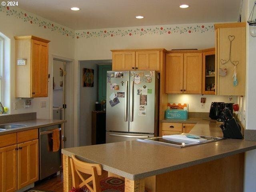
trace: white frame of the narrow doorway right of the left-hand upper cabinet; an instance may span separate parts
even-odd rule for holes
[[[74,110],[76,108],[76,97],[74,96],[74,90],[75,90],[75,86],[74,86],[74,76],[75,76],[75,61],[74,59],[71,58],[66,58],[66,57],[62,57],[62,56],[58,56],[58,55],[50,55],[50,61],[49,62],[49,70],[50,70],[50,74],[53,74],[53,62],[54,60],[59,60],[62,62],[66,62],[66,71],[67,73],[70,74],[70,78],[68,80],[66,80],[66,90],[70,91],[66,91],[66,104],[68,106],[68,108],[66,108],[66,120],[67,123],[65,124],[65,135],[72,135],[72,137],[70,137],[70,142],[69,145],[66,147],[74,147],[74,146],[78,146],[79,144],[79,138],[78,138],[78,126],[77,126],[77,112],[75,112],[76,110]],[[49,98],[50,98],[50,119],[52,119],[53,117],[53,113],[52,113],[52,107],[53,107],[53,75],[51,75],[50,77],[50,85],[49,85]],[[69,99],[68,99],[69,98]],[[68,129],[67,129],[68,128]],[[68,132],[67,132],[68,130]]]

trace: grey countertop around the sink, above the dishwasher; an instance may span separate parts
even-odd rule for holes
[[[66,120],[53,120],[53,119],[31,119],[31,120],[23,120],[23,121],[16,121],[16,122],[8,122],[8,123],[3,123],[3,125],[16,124],[16,125],[26,125],[26,126],[2,130],[2,131],[0,131],[0,135],[14,133],[14,132],[20,132],[20,131],[26,131],[26,130],[31,130],[31,129],[38,129],[41,127],[62,124],[65,122],[67,122],[67,121]],[[0,125],[2,125],[2,123]]]

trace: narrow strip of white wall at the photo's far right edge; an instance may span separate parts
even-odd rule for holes
[[[244,21],[249,18],[250,12],[254,6],[255,0],[244,0]],[[254,19],[256,15],[254,13]],[[246,24],[246,129],[256,129],[256,38],[250,36],[248,24]],[[244,192],[256,191],[256,150],[246,152],[245,156],[245,175],[244,175]]]

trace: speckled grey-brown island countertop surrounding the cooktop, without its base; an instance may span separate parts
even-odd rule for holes
[[[221,136],[215,122],[200,120],[192,134]],[[98,163],[106,171],[130,180],[162,174],[196,164],[256,149],[256,141],[225,139],[184,148],[144,143],[136,140],[62,149],[67,156]]]

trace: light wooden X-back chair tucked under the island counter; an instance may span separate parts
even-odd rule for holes
[[[124,180],[117,177],[108,177],[99,180],[102,174],[102,166],[100,164],[91,164],[78,160],[74,155],[70,158],[72,185],[70,192],[107,192],[114,190],[115,192],[124,192]],[[85,179],[81,173],[90,174]],[[80,183],[80,179],[82,182]],[[149,192],[145,190],[145,192]]]

